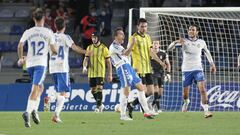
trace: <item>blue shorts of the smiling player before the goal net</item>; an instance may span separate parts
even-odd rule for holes
[[[192,85],[193,82],[204,81],[204,73],[201,70],[187,71],[182,73],[183,87]]]

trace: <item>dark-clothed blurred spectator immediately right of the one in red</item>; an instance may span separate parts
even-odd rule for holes
[[[110,2],[104,1],[100,10],[100,33],[101,36],[111,35],[112,7]]]

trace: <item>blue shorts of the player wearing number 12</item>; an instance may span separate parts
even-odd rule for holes
[[[34,66],[27,68],[32,84],[41,85],[46,77],[46,67]]]

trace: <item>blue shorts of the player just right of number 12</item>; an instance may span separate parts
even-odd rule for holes
[[[57,92],[69,92],[71,90],[68,73],[53,73],[54,87]]]

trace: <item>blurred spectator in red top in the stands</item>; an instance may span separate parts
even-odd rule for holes
[[[95,7],[90,7],[89,14],[84,16],[81,20],[82,25],[82,44],[86,49],[92,43],[91,36],[93,32],[97,31],[97,12]]]

